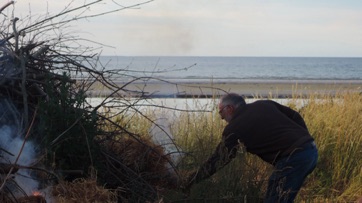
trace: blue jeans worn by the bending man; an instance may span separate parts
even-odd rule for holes
[[[305,178],[317,165],[318,150],[314,142],[281,158],[269,178],[265,203],[293,202]]]

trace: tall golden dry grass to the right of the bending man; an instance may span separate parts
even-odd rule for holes
[[[308,187],[327,198],[354,201],[362,196],[362,95],[311,97],[302,110],[319,148]]]

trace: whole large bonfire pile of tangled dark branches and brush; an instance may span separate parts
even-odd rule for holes
[[[0,13],[13,4],[5,4]],[[85,100],[94,83],[109,88],[111,95],[120,95],[126,87],[116,87],[107,76],[114,72],[97,70],[96,55],[66,45],[70,40],[62,34],[38,39],[51,30],[61,33],[72,20],[55,19],[68,9],[30,25],[2,15],[0,97],[9,108],[0,108],[0,128],[15,122],[20,130],[14,136],[35,143],[38,157],[32,165],[10,163],[4,154],[16,158],[23,148],[11,154],[0,143],[0,202],[154,200],[160,188],[175,184],[175,170],[166,167],[170,157],[147,136],[130,133],[111,117],[99,115],[96,110],[105,102],[92,107]],[[84,9],[87,5],[74,11]],[[2,117],[5,114],[13,119]],[[105,124],[117,130],[105,131],[100,127]],[[28,194],[14,181],[18,169],[30,170],[28,178],[39,180],[39,193]]]

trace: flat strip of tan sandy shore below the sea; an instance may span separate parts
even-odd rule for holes
[[[118,86],[125,83],[119,82]],[[341,92],[362,93],[362,81],[242,81],[242,82],[147,82],[132,83],[122,88],[129,94],[143,92],[152,97],[211,97],[234,92],[245,97],[277,97],[286,98],[293,95],[336,94]],[[112,91],[94,86],[88,93],[91,96],[107,96]],[[116,95],[115,95],[116,96]]]

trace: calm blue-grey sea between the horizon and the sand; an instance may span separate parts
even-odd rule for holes
[[[182,81],[361,81],[362,58],[102,56],[106,70]],[[122,80],[122,78],[118,78]]]

